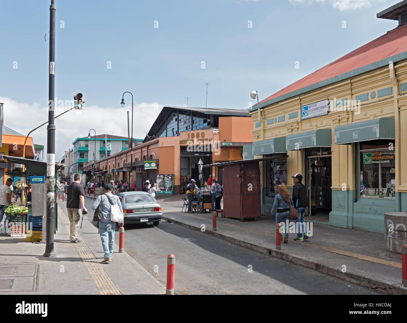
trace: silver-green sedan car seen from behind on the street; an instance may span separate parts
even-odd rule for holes
[[[149,193],[122,192],[118,197],[122,202],[125,223],[153,222],[156,226],[162,220],[161,206]]]

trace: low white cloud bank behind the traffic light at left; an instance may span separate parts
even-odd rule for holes
[[[4,103],[4,125],[20,132],[28,134],[33,128],[48,120],[48,106],[39,103],[20,103],[8,97],[0,97]],[[141,102],[133,107],[133,138],[144,139],[145,132],[150,130],[151,125],[160,113],[163,105],[159,103]],[[55,110],[55,116],[67,109],[62,105]],[[113,134],[127,137],[127,111],[130,116],[131,127],[131,104],[126,103],[122,108],[101,108],[96,105],[84,103],[83,110],[70,110],[55,119],[55,160],[58,161],[65,150],[72,147],[72,141],[78,137],[88,136],[91,128],[96,134]],[[92,131],[93,133],[93,131]],[[130,133],[131,135],[131,133]],[[47,124],[30,134],[35,144],[47,147]],[[113,152],[112,152],[113,153]],[[46,151],[44,152],[44,156]]]

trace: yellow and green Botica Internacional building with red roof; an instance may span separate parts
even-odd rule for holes
[[[403,2],[402,2],[403,3]],[[402,4],[401,3],[401,4]],[[379,18],[399,20],[406,5]],[[384,213],[407,209],[407,24],[254,105],[262,213],[279,184],[302,174],[307,218],[385,233]]]

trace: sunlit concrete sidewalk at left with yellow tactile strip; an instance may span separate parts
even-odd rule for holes
[[[165,294],[165,287],[133,258],[118,253],[118,230],[111,263],[101,264],[101,239],[88,219],[78,229],[83,242],[71,244],[66,202],[57,202],[57,257],[43,257],[43,243],[0,234],[0,294]]]

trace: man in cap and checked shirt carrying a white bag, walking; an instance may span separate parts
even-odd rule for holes
[[[112,194],[113,186],[106,184],[105,193],[99,195],[96,201],[92,204],[92,209],[96,210],[99,204],[101,204],[102,218],[99,221],[99,235],[102,241],[103,251],[105,252],[105,259],[102,260],[103,264],[112,261],[112,255],[114,251],[114,231],[116,230],[116,222],[110,220],[110,213],[112,209],[112,204],[118,204],[120,212],[124,215],[122,204],[118,196]],[[109,198],[107,198],[109,197]],[[110,201],[112,204],[110,204]],[[119,226],[123,226],[123,222],[119,223]]]

